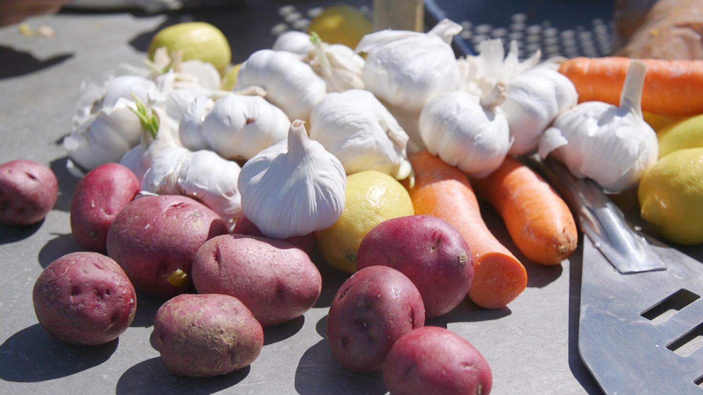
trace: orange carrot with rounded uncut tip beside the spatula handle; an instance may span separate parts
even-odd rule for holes
[[[491,175],[471,182],[501,214],[512,241],[531,261],[556,265],[576,250],[579,234],[569,207],[529,167],[506,157]]]

